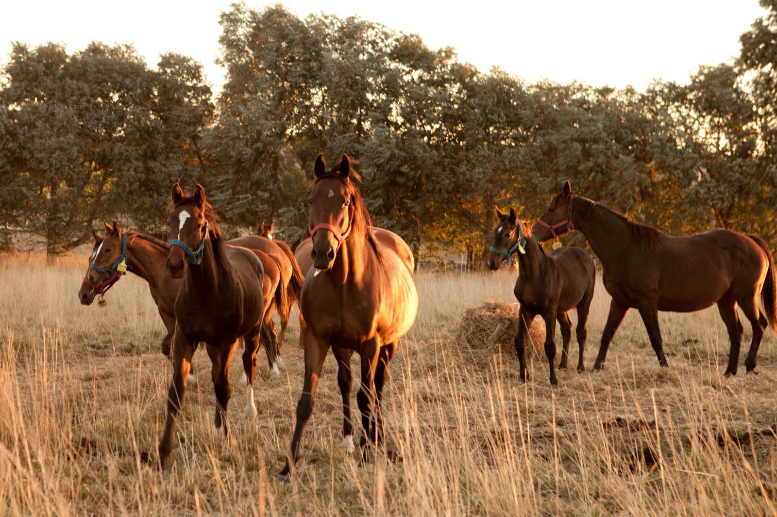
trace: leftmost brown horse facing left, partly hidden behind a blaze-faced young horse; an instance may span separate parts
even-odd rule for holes
[[[95,244],[92,255],[89,256],[89,269],[78,290],[78,299],[84,305],[90,305],[98,293],[103,295],[120,278],[122,272],[113,268],[124,262],[126,272],[132,272],[148,282],[152,299],[162,317],[162,323],[167,328],[167,334],[162,338],[162,353],[170,355],[172,337],[176,331],[175,304],[178,290],[183,279],[172,278],[166,270],[166,260],[170,252],[167,232],[146,234],[137,231],[124,232],[116,221],[113,226],[105,224],[105,234],[100,237],[95,231],[92,234]],[[251,249],[262,261],[264,267],[263,295],[266,307],[262,339],[267,353],[267,366],[270,377],[276,381],[279,377],[278,366],[280,351],[278,349],[275,324],[272,320],[274,307],[287,304],[287,286],[281,285],[281,266],[267,253],[259,248],[264,246],[264,239],[259,237],[237,238],[230,241],[232,245],[240,245]],[[284,256],[285,259],[285,256]],[[279,311],[280,312],[280,311]],[[287,318],[288,319],[288,318]],[[190,384],[197,382],[197,377],[190,374]]]

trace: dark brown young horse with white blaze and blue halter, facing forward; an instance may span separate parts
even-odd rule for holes
[[[178,183],[172,187],[172,210],[168,218],[171,237],[167,270],[183,276],[176,297],[176,336],[172,350],[172,383],[167,402],[167,421],[159,439],[159,466],[164,467],[172,449],[172,431],[181,407],[191,359],[197,343],[205,342],[211,358],[211,378],[216,393],[214,428],[227,435],[227,404],[232,395],[229,366],[237,339],[246,349],[243,368],[248,373],[246,415],[256,416],[253,376],[256,350],[263,326],[263,266],[246,248],[232,246],[221,238],[218,217],[197,185],[193,196],[184,196]]]

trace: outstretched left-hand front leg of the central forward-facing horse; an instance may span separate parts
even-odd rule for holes
[[[302,395],[297,403],[297,423],[294,425],[294,436],[291,437],[291,449],[286,456],[286,465],[278,474],[278,480],[291,482],[294,463],[299,453],[299,442],[305,423],[313,412],[315,389],[319,386],[321,367],[329,352],[329,340],[319,339],[308,331],[305,333],[305,383],[302,385]]]

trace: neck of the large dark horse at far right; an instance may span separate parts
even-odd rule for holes
[[[594,206],[585,220],[573,222],[577,230],[583,232],[605,269],[618,262],[629,245],[629,221],[601,206]]]

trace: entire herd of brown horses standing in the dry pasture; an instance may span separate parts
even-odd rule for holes
[[[227,406],[232,394],[229,367],[242,338],[246,373],[246,415],[256,417],[253,380],[260,344],[267,353],[270,376],[278,378],[279,341],[284,341],[291,307],[300,307],[300,345],[305,351],[305,378],[297,405],[297,422],[287,462],[278,474],[291,481],[305,423],[312,414],[315,391],[329,349],[335,356],[337,384],[343,397],[343,446],[353,452],[350,418],[352,373],[350,358],[361,359],[362,460],[382,442],[381,400],[389,362],[399,338],[409,331],[418,310],[413,254],[399,236],[371,227],[347,155],[327,169],[322,154],[315,159],[315,181],[308,196],[310,238],[296,253],[271,236],[252,235],[226,241],[218,217],[202,186],[193,195],[172,187],[167,231],[157,234],[124,232],[114,221],[105,233],[93,232],[95,245],[78,297],[91,304],[127,271],[148,281],[167,334],[162,352],[172,358],[167,419],[159,439],[159,467],[172,449],[172,433],[187,383],[196,383],[191,360],[205,344],[211,359],[216,395],[214,431],[228,432]],[[731,349],[726,375],[737,373],[742,325],[741,307],[753,327],[745,365],[756,366],[758,345],[768,325],[777,328],[777,289],[772,254],[761,238],[736,231],[711,230],[688,237],[670,237],[572,193],[569,182],[552,197],[534,227],[514,209],[503,213],[494,230],[487,258],[490,269],[517,254],[519,276],[515,296],[521,304],[515,348],[526,380],[524,340],[535,316],[545,321],[545,355],[550,382],[554,370],[554,333],[559,322],[563,351],[559,368],[566,368],[571,338],[567,311],[578,314],[577,370],[584,370],[587,317],[596,277],[591,255],[566,247],[545,253],[542,242],[580,231],[597,255],[605,289],[612,300],[594,370],[601,368],[615,330],[629,308],[639,311],[650,343],[662,366],[658,311],[699,311],[717,304],[728,329]],[[305,275],[303,276],[303,272]],[[764,308],[760,314],[758,297]],[[102,299],[101,299],[102,301]],[[271,315],[280,319],[280,339]],[[374,389],[373,389],[374,386]]]

